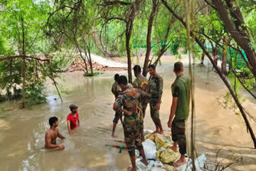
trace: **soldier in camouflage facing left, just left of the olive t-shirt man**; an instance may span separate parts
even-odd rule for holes
[[[160,77],[156,70],[155,66],[149,66],[149,72],[152,78],[150,79],[150,115],[152,120],[154,121],[155,131],[154,133],[161,133],[163,134],[162,124],[159,117],[159,110],[161,105],[161,98],[162,98],[162,87],[163,81],[162,77]]]

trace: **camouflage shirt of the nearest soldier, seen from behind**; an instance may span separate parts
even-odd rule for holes
[[[114,102],[114,105],[118,105],[119,109],[121,109],[121,107],[123,106],[123,109],[137,114],[138,105],[140,105],[139,98],[149,99],[149,97],[150,96],[141,89],[134,89],[128,87],[127,89],[119,93],[118,98]],[[126,117],[133,116],[131,115]]]

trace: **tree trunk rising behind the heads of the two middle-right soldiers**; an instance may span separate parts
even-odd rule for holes
[[[146,56],[145,56],[143,72],[142,72],[144,77],[146,77],[147,66],[149,65],[149,62],[150,62],[152,26],[154,22],[154,15],[156,14],[157,8],[158,8],[158,0],[152,0],[152,10],[150,14],[149,24],[147,27],[147,36],[146,36]]]

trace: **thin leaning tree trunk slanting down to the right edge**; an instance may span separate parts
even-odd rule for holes
[[[216,0],[218,1],[218,0]],[[178,14],[176,14],[174,12],[174,10],[172,10],[170,8],[170,6],[167,4],[166,0],[162,0],[162,3],[166,6],[166,8],[170,11],[171,14],[174,14],[174,17],[177,18],[182,25],[186,28],[186,22],[183,21],[183,19],[178,16]],[[198,43],[198,46],[200,46],[202,48],[202,50],[206,53],[206,56],[209,58],[210,62],[212,63],[212,65],[214,66],[214,69],[217,71],[218,75],[220,78],[222,78],[222,81],[224,82],[224,84],[226,85],[226,87],[229,89],[230,94],[232,95],[235,103],[238,105],[238,109],[240,110],[240,112],[242,113],[242,117],[244,119],[244,121],[246,122],[246,127],[247,130],[249,130],[250,132],[250,136],[252,138],[252,140],[254,141],[254,148],[256,149],[256,137],[254,135],[254,131],[250,126],[250,122],[248,121],[248,118],[246,117],[246,112],[243,109],[240,101],[238,100],[238,97],[235,96],[234,90],[231,88],[230,83],[226,80],[226,78],[222,75],[222,72],[218,69],[218,66],[215,65],[213,58],[211,58],[209,52],[206,50],[205,46],[203,45],[203,43],[193,34],[192,31],[190,31],[190,37],[194,38],[195,42]]]

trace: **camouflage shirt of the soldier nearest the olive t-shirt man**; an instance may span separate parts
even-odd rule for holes
[[[152,77],[150,79],[149,92],[151,98],[158,98],[160,95],[162,95],[162,86],[163,81],[159,75],[157,75],[156,77]]]

